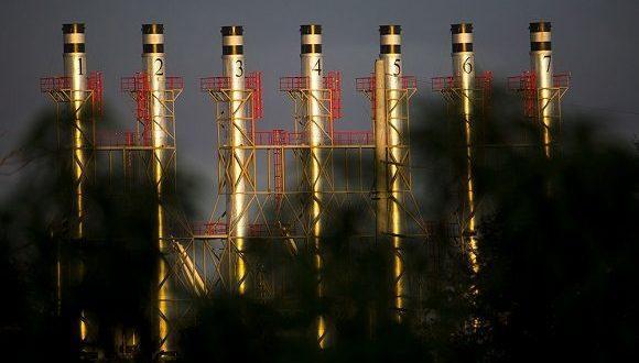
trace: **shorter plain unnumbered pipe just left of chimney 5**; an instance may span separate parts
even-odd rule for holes
[[[376,189],[376,235],[382,239],[388,233],[388,186],[387,186],[387,140],[386,140],[386,82],[385,63],[375,61],[375,189]]]

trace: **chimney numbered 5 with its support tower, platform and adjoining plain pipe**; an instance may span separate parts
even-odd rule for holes
[[[392,249],[392,308],[401,322],[411,295],[405,244],[409,239],[429,238],[432,230],[411,191],[409,111],[416,80],[402,75],[401,26],[381,25],[379,32],[380,55],[373,76],[358,78],[356,88],[372,102],[376,235],[388,240]]]

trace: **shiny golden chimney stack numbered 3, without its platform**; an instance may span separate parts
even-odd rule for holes
[[[239,295],[245,295],[249,287],[249,273],[246,260],[249,235],[248,189],[252,170],[246,165],[247,155],[243,147],[249,145],[251,130],[247,128],[246,85],[242,26],[221,28],[221,48],[224,76],[229,79],[228,138],[230,155],[227,160],[227,187],[230,190],[227,199],[228,242],[235,245],[231,253],[232,280]]]

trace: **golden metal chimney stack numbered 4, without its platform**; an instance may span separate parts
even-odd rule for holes
[[[324,284],[322,278],[322,268],[324,261],[320,252],[321,235],[323,229],[323,168],[324,168],[324,153],[321,147],[325,144],[326,135],[328,135],[328,118],[327,112],[323,109],[323,89],[324,89],[324,56],[322,55],[322,25],[308,24],[300,26],[301,33],[301,67],[302,76],[306,77],[307,94],[306,94],[306,112],[304,122],[304,131],[308,152],[306,157],[305,177],[307,178],[310,201],[308,201],[308,224],[307,231],[310,234],[310,243],[315,249],[315,268],[317,270],[317,296],[324,296]],[[317,341],[320,348],[326,348],[328,343],[328,336],[326,329],[326,318],[320,316],[317,318]]]

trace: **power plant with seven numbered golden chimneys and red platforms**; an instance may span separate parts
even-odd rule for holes
[[[258,300],[295,298],[286,284],[293,273],[284,265],[264,268],[260,256],[251,253],[256,245],[272,249],[280,260],[311,252],[315,296],[323,298],[331,288],[324,278],[331,261],[323,241],[339,212],[349,208],[360,213],[355,233],[362,244],[389,246],[390,306],[399,323],[427,295],[426,278],[410,266],[415,251],[429,254],[433,239],[443,233],[473,272],[479,271],[481,190],[476,168],[486,145],[478,124],[489,108],[495,79],[492,73],[476,68],[473,24],[451,26],[452,75],[431,79],[432,91],[446,103],[446,122],[458,130],[464,154],[456,175],[457,206],[445,221],[424,219],[413,194],[410,111],[420,79],[403,72],[400,25],[379,26],[379,55],[371,55],[369,75],[355,79],[356,90],[370,101],[371,122],[366,130],[337,122],[343,116],[343,78],[338,70],[326,70],[333,65],[325,65],[323,50],[331,44],[324,44],[320,24],[300,26],[300,72],[279,79],[278,91],[291,103],[291,128],[259,129],[264,109],[262,73],[253,70],[245,56],[245,28],[221,26],[221,74],[199,79],[201,91],[214,103],[210,127],[216,129],[212,143],[217,160],[217,194],[204,222],[188,221],[172,200],[177,173],[176,102],[191,86],[169,74],[171,44],[165,47],[163,24],[142,25],[142,66],[120,79],[136,120],[122,132],[96,128],[104,81],[101,73],[89,72],[85,30],[82,23],[63,25],[64,74],[40,80],[42,92],[56,106],[62,165],[73,176],[69,239],[78,245],[90,243],[91,215],[85,199],[97,173],[124,183],[147,180],[155,197],[158,358],[178,353],[178,329],[191,323],[195,298],[223,293]],[[551,158],[560,153],[561,101],[570,74],[553,73],[550,22],[530,23],[530,69],[509,77],[507,85],[521,97],[523,114],[539,130],[541,143],[529,146]],[[64,279],[82,280],[82,262],[59,260],[56,271],[56,298],[64,305]],[[334,342],[333,319],[329,314],[316,317],[313,331],[322,349]],[[77,336],[87,346],[95,329],[91,311],[83,310]],[[138,332],[123,328],[121,337],[120,353],[127,355],[139,344]],[[90,348],[85,353],[98,354]]]

